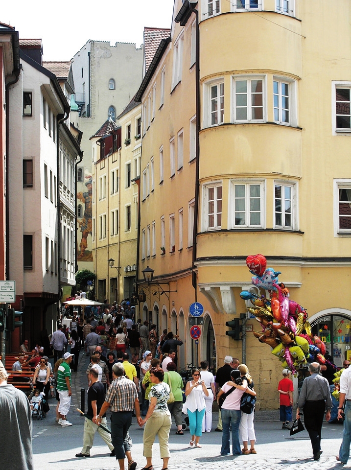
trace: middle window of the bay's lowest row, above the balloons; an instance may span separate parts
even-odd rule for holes
[[[232,188],[232,227],[263,227],[263,182],[235,182]]]

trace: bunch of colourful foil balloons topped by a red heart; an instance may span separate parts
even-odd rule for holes
[[[307,362],[325,364],[326,345],[312,335],[304,307],[289,300],[289,290],[278,282],[281,272],[266,268],[267,260],[263,255],[248,256],[246,264],[254,274],[252,283],[269,292],[269,299],[250,290],[240,293],[242,299],[253,304],[248,311],[262,327],[262,331],[253,331],[258,341],[271,346],[272,354],[279,357],[282,367],[293,373]]]

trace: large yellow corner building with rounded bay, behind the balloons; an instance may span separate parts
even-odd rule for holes
[[[280,362],[250,332],[225,334],[246,312],[248,255],[281,271],[337,366],[350,354],[350,10],[348,0],[176,0],[136,96],[143,319],[185,340],[181,366],[196,350],[217,367],[226,354],[245,360],[261,408],[278,406]],[[146,266],[172,292],[147,286]],[[198,345],[195,300],[205,310]]]

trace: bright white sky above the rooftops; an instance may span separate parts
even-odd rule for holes
[[[68,61],[89,40],[143,42],[144,26],[170,28],[174,0],[17,0],[1,2],[0,22],[20,39],[42,39],[44,61]]]

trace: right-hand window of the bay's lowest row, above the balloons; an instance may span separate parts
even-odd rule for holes
[[[274,185],[275,226],[294,229],[295,185],[276,182]]]

